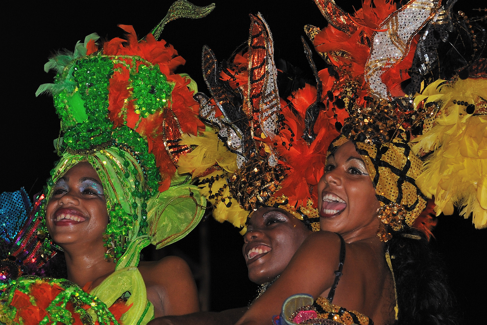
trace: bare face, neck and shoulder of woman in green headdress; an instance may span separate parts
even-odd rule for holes
[[[87,161],[76,164],[56,182],[47,203],[46,224],[54,242],[64,250],[68,280],[94,288],[115,271],[115,264],[104,260],[108,213],[103,186]],[[199,309],[192,273],[181,258],[141,262],[138,269],[156,317]]]

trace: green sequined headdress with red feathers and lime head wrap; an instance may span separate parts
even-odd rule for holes
[[[51,171],[45,202],[65,172],[88,161],[103,183],[110,216],[105,258],[114,259],[117,268],[137,265],[140,249],[149,243],[161,248],[183,238],[206,206],[190,177],[175,168],[179,156],[191,151],[178,144],[181,134],[203,127],[192,98],[194,81],[173,73],[185,60],[156,39],[160,31],[138,41],[131,26],[120,27],[127,39],[114,38],[99,48],[99,37],[91,34],[74,53],[51,58],[45,70],[56,70],[55,82],[37,91],[54,96],[61,118],[56,143],[61,159]],[[37,233],[51,250],[45,222]]]

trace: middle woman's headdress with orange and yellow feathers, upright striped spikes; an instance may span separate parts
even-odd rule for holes
[[[216,134],[183,138],[201,151],[180,160],[179,170],[198,176],[215,219],[230,221],[242,233],[249,213],[262,206],[279,207],[318,230],[316,185],[325,148],[337,132],[314,128],[320,83],[295,91],[288,103],[279,97],[271,32],[260,14],[250,18],[246,53],[219,65],[213,52],[203,49],[203,75],[212,97],[198,93],[195,98],[200,118]],[[314,67],[307,46],[305,52]],[[209,169],[197,168],[201,156]]]

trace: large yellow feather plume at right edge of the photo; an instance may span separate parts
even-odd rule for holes
[[[435,101],[441,105],[430,131],[412,140],[415,153],[433,153],[427,158],[423,172],[416,180],[421,191],[434,195],[436,215],[452,214],[454,206],[476,228],[487,227],[487,118],[468,114],[467,102],[475,111],[487,109],[487,79],[458,79],[451,83],[437,80],[414,99]],[[455,101],[453,101],[455,100]]]

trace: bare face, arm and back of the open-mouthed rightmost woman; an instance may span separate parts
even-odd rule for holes
[[[328,157],[318,194],[323,198],[318,201],[321,231],[308,236],[279,279],[250,306],[238,325],[267,324],[281,312],[284,299],[296,293],[326,297],[339,264],[336,233],[346,243],[346,256],[333,303],[369,316],[374,324],[393,323],[393,279],[383,255],[384,243],[376,236],[380,205],[352,142]]]

